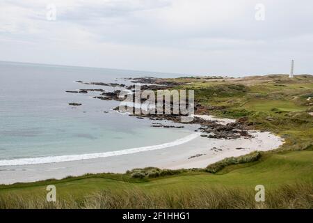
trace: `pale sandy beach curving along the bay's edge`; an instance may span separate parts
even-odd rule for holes
[[[202,116],[202,118],[212,119],[214,117]],[[214,120],[225,124],[232,122],[231,119],[214,118]],[[253,136],[249,139],[243,137],[227,140],[208,139],[199,135],[184,144],[138,153],[87,160],[0,167],[0,183],[33,182],[49,178],[60,179],[87,173],[125,173],[129,169],[143,167],[204,168],[208,164],[223,160],[225,157],[236,157],[252,151],[269,151],[283,144],[280,137],[270,132],[250,131],[249,133]],[[202,155],[190,158],[198,154]]]

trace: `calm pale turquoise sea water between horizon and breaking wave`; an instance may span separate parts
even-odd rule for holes
[[[0,62],[0,160],[80,155],[164,144],[191,134],[190,128],[152,128],[155,121],[112,111],[119,102],[98,93],[65,93],[111,87],[84,82],[127,82],[123,77],[179,75]],[[71,107],[68,102],[80,102]],[[109,112],[109,113],[104,113]],[[159,122],[159,121],[158,121]]]

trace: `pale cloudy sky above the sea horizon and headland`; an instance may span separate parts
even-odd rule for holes
[[[312,0],[1,0],[0,61],[313,74]]]

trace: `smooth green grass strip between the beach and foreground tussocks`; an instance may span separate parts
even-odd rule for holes
[[[22,183],[0,187],[0,194],[29,196],[44,194],[45,187],[54,184],[58,196],[83,197],[99,190],[134,190],[142,189],[148,193],[177,190],[195,190],[202,187],[229,187],[254,190],[255,185],[262,184],[267,189],[275,189],[285,184],[313,183],[313,151],[282,151],[268,153],[262,159],[248,164],[226,167],[218,174],[206,172],[187,172],[175,176],[153,179],[132,180],[128,176],[114,174],[97,174],[50,180],[41,183]],[[133,182],[131,182],[133,181]]]

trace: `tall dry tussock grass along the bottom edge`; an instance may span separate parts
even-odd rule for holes
[[[313,208],[313,185],[298,183],[266,190],[265,202],[255,201],[254,190],[200,187],[193,190],[148,192],[126,188],[119,192],[100,190],[83,199],[45,201],[45,194],[0,197],[0,208]]]

